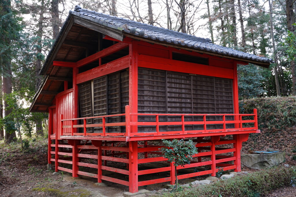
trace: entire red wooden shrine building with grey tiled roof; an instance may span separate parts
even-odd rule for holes
[[[242,142],[260,131],[256,110],[239,114],[237,64],[271,62],[76,6],[41,69],[46,78],[30,110],[49,113],[48,162],[56,171],[134,193],[174,184],[175,173],[183,179],[215,176],[220,167],[240,171]],[[178,172],[158,150],[161,139],[175,138],[193,139],[199,150]],[[200,166],[207,170],[182,173]]]

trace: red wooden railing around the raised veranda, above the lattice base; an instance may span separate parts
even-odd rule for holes
[[[125,122],[106,123],[108,117],[125,116]],[[138,116],[155,117],[155,121],[141,122],[131,121],[131,117]],[[159,117],[180,117],[180,121],[159,121]],[[185,121],[186,117],[200,117],[201,121]],[[211,121],[207,117],[222,117],[222,120]],[[226,120],[226,117],[233,117],[233,120]],[[87,119],[102,119],[102,123],[86,124]],[[120,118],[119,118],[120,119]],[[246,120],[247,119],[247,120]],[[83,124],[77,124],[79,121]],[[226,125],[232,124],[234,128],[227,128]],[[252,126],[250,126],[252,124]],[[199,130],[186,130],[185,126],[202,126]],[[209,125],[221,125],[222,128],[207,129]],[[125,132],[108,133],[107,127],[125,127]],[[155,131],[152,132],[138,132],[138,126],[155,126]],[[178,131],[160,131],[160,126],[176,126],[181,127]],[[87,128],[96,127],[102,128],[100,133],[87,133]],[[83,128],[83,133],[77,132],[79,128]],[[152,135],[170,135],[170,134],[192,134],[192,133],[212,133],[212,132],[229,132],[229,131],[246,131],[258,130],[257,109],[254,109],[253,114],[150,114],[150,113],[130,113],[130,108],[126,106],[126,113],[115,115],[102,115],[86,118],[63,119],[61,115],[61,135],[82,135],[82,136],[152,136]]]

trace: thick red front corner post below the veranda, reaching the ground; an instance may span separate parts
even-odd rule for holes
[[[138,192],[138,142],[129,142],[129,192]]]

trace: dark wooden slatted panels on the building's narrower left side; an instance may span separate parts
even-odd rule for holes
[[[128,70],[100,76],[89,82],[79,84],[79,103],[81,117],[113,115],[125,113],[125,105],[128,105]],[[90,96],[90,97],[89,97]],[[92,119],[89,119],[92,120]],[[125,117],[108,117],[106,123],[125,121]],[[87,124],[102,123],[102,118],[94,118]],[[81,123],[82,124],[82,123]],[[102,128],[87,128],[87,132],[102,133]],[[108,133],[125,132],[121,126],[107,128]]]

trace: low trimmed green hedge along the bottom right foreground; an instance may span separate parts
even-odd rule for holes
[[[269,191],[289,185],[296,172],[292,168],[272,168],[247,175],[236,176],[227,180],[220,180],[211,185],[201,185],[190,190],[167,193],[163,196],[190,197],[254,197],[267,194]]]

